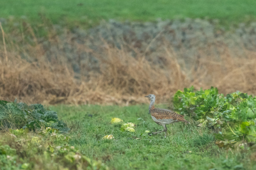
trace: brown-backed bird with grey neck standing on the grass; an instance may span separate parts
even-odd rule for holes
[[[156,96],[155,95],[147,95],[145,96],[150,99],[150,105],[148,107],[148,114],[151,114],[152,119],[158,124],[164,127],[163,130],[159,132],[152,132],[152,134],[159,134],[161,132],[165,132],[164,137],[166,138],[167,134],[167,128],[166,125],[183,121],[185,123],[189,123],[184,119],[183,115],[177,114],[176,112],[169,111],[167,109],[160,109],[160,108],[155,108],[154,103],[156,101]]]

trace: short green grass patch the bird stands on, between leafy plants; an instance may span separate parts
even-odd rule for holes
[[[145,130],[155,132],[162,128],[154,123],[147,107],[59,105],[51,109],[71,128],[70,146],[102,160],[109,169],[255,169],[250,151],[219,149],[211,130],[193,123],[168,125],[166,139],[164,134],[146,134]],[[111,118],[136,123],[136,132],[121,132],[119,124],[110,123]],[[102,140],[109,134],[115,140]]]

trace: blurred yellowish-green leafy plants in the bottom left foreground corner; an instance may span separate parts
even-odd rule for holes
[[[0,135],[0,169],[108,169],[100,160],[86,157],[70,146],[70,137],[54,128],[41,128],[38,133],[28,128],[10,129]]]

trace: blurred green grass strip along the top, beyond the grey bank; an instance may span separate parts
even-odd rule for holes
[[[221,23],[255,20],[256,1],[253,0],[1,0],[0,17],[21,17],[37,22],[43,13],[59,23],[97,22],[100,19],[155,20],[175,18],[220,19]]]

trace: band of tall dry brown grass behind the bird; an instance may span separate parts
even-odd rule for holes
[[[2,33],[4,35],[3,30]],[[99,52],[72,42],[77,49],[93,54],[100,63],[100,73],[90,72],[89,77],[79,75],[80,79],[75,79],[70,63],[61,57],[61,53],[48,61],[33,31],[30,36],[34,43],[22,46],[13,43],[8,35],[1,36],[6,42],[2,41],[0,47],[1,100],[17,98],[43,104],[128,105],[148,102],[144,96],[149,93],[157,96],[157,102],[164,102],[177,89],[192,85],[195,88],[216,86],[225,94],[237,90],[256,93],[256,52],[246,49],[236,52],[227,45],[215,44],[214,50],[212,46],[198,49],[200,55],[192,56],[189,66],[184,66],[188,63],[184,63],[180,53],[173,52],[170,45],[163,43],[157,54],[163,64],[157,65],[147,59],[145,52],[137,52],[134,57],[125,48],[118,49],[108,43]],[[60,43],[56,36],[54,40],[50,37],[49,41]],[[218,58],[214,53],[216,49]],[[20,51],[30,59],[22,59]]]

